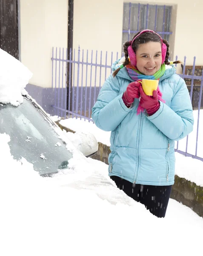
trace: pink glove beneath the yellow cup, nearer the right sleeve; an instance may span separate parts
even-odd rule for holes
[[[139,87],[140,90],[140,106],[146,109],[149,116],[152,116],[157,110],[160,108],[160,102],[158,100],[157,91],[153,91],[153,96],[147,96],[144,91],[143,87]]]

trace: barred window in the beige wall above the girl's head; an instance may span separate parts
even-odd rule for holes
[[[162,38],[170,41],[172,6],[141,3],[123,4],[123,43],[130,41],[141,29],[155,30]]]

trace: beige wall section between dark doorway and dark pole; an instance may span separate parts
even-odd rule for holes
[[[20,0],[21,61],[31,84],[51,87],[52,47],[67,47],[67,0]]]

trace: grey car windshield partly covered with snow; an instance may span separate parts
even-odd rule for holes
[[[54,131],[54,125],[26,97],[18,107],[0,104],[0,133],[9,134],[14,159],[24,157],[40,175],[51,175],[58,169],[65,169],[72,157]]]

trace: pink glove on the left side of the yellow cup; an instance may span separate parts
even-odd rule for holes
[[[124,104],[128,108],[132,105],[135,98],[137,98],[137,99],[140,98],[139,87],[141,84],[139,83],[139,81],[141,81],[141,80],[137,80],[136,82],[130,83],[126,88],[126,91],[123,93],[122,99],[123,99]]]

